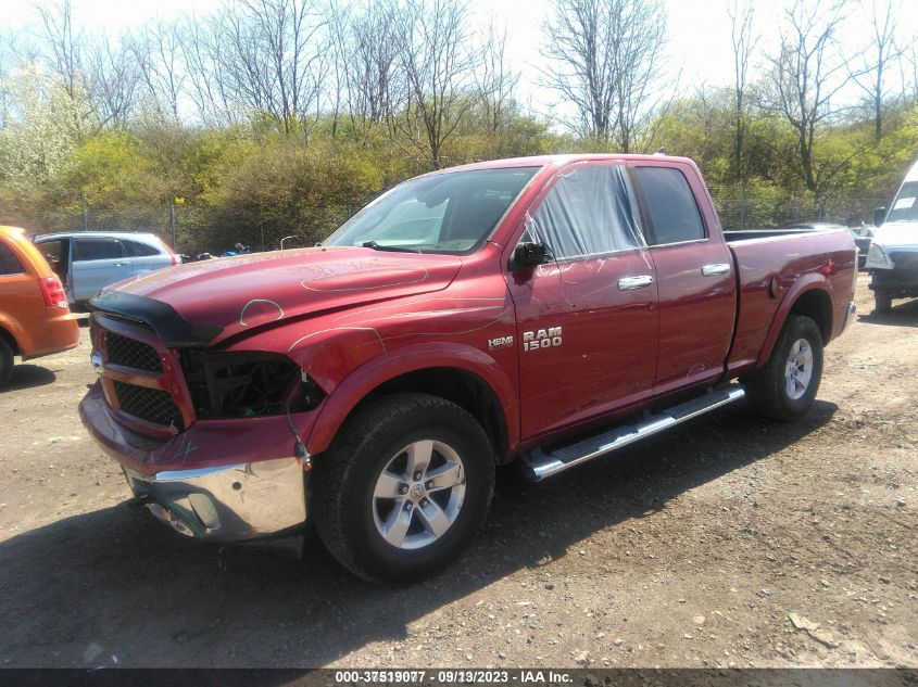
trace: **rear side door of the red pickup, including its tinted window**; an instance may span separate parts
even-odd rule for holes
[[[714,381],[724,370],[737,314],[730,251],[701,178],[688,165],[631,163],[659,297],[655,393]],[[704,209],[702,209],[704,208]]]

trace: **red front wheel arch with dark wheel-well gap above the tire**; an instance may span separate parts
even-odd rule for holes
[[[410,348],[374,358],[329,394],[306,441],[310,454],[326,450],[348,418],[366,404],[414,392],[467,410],[491,441],[498,462],[507,461],[519,443],[518,422],[513,419],[513,385],[496,362],[481,351],[454,344]]]

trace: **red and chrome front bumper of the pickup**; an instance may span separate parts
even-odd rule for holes
[[[306,466],[291,455],[286,418],[199,422],[156,441],[120,423],[98,384],[79,415],[121,463],[135,502],[183,535],[221,543],[277,538],[306,520]]]

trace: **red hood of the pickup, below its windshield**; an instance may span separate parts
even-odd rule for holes
[[[450,255],[314,247],[178,265],[105,291],[153,298],[194,326],[221,328],[213,345],[285,319],[439,291],[461,265]]]

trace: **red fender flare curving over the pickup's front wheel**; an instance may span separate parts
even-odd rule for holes
[[[487,353],[464,344],[425,343],[382,354],[351,372],[328,395],[306,438],[311,455],[326,450],[344,420],[373,390],[397,377],[430,368],[456,368],[479,378],[500,404],[504,414],[507,445],[519,444],[519,422],[514,416],[516,394],[513,382]]]

